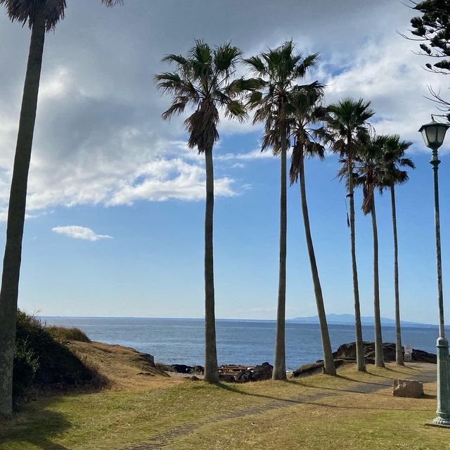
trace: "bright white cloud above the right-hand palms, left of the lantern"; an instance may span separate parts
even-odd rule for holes
[[[423,70],[425,58],[411,51],[414,46],[416,42],[411,44],[399,35],[385,36],[359,47],[352,56],[352,65],[342,72],[327,73],[325,69],[329,71],[330,66],[325,64],[321,75],[327,84],[327,103],[344,96],[363,97],[372,102],[372,124],[377,133],[400,134],[425,151],[417,130],[436,112],[425,96],[429,96],[429,85],[446,93],[446,79]]]

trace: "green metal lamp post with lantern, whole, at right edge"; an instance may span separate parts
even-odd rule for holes
[[[449,389],[449,341],[445,338],[444,330],[444,300],[442,295],[442,264],[441,264],[441,230],[439,226],[439,184],[437,168],[439,159],[437,149],[442,146],[449,125],[432,121],[422,125],[419,131],[422,133],[425,145],[431,148],[431,161],[433,167],[433,179],[435,184],[435,228],[436,228],[436,262],[437,262],[437,300],[439,303],[439,338],[437,347],[437,417],[434,425],[450,426],[450,389]]]

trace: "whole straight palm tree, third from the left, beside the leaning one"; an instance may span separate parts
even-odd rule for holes
[[[271,147],[281,155],[280,193],[280,259],[278,271],[278,307],[276,315],[276,342],[274,380],[285,380],[285,303],[286,303],[286,153],[289,146],[288,98],[296,89],[296,82],[314,67],[317,54],[302,57],[295,52],[293,41],[287,41],[276,49],[268,49],[259,56],[245,59],[255,78],[248,96],[250,108],[255,110],[253,122],[264,122],[262,150]],[[315,85],[315,84],[314,84]]]

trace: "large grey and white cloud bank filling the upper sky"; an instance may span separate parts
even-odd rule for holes
[[[46,38],[27,200],[32,215],[58,206],[204,198],[203,158],[186,148],[182,117],[162,121],[169,98],[160,96],[152,82],[153,74],[167,70],[160,58],[185,53],[194,35],[212,44],[233,38],[245,56],[293,38],[300,51],[321,52],[311,79],[327,84],[328,103],[342,96],[371,100],[378,132],[399,133],[416,143],[416,130],[433,112],[423,98],[427,85],[443,88],[444,77],[425,72],[425,59],[412,53],[416,43],[395,32],[406,32],[411,10],[392,0],[323,0],[320,7],[314,2],[261,0],[256,9],[234,0],[168,0],[158,5],[134,0],[112,9],[97,3],[71,2],[66,19]],[[230,13],[233,7],[239,15]],[[155,39],[160,36],[165,39]],[[1,218],[11,181],[30,32],[1,14],[0,39]],[[255,130],[260,132],[250,122],[219,124],[225,139]],[[422,143],[417,148],[422,149]],[[271,156],[258,149],[214,151],[218,196],[244,192],[251,180],[239,184],[236,170]]]

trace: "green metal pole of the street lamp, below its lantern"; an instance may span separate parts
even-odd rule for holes
[[[437,300],[439,303],[439,338],[437,338],[437,417],[436,425],[450,426],[450,390],[449,390],[449,341],[444,329],[444,297],[442,294],[442,262],[441,262],[441,227],[439,224],[439,179],[437,169],[437,147],[432,148],[430,164],[433,167],[435,186],[435,229],[436,229],[436,264],[437,264]]]

